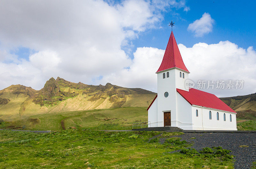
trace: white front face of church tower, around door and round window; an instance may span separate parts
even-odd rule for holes
[[[167,72],[169,72],[169,77],[166,76]],[[164,79],[163,73],[165,73]],[[168,92],[168,97],[164,97],[165,92]],[[175,69],[167,70],[157,74],[158,127],[164,126],[164,111],[171,111],[171,119],[176,119]],[[176,125],[176,123],[171,123],[171,126],[176,127]]]

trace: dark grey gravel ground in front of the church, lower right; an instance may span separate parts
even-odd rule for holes
[[[236,156],[235,168],[251,168],[252,162],[256,161],[256,133],[185,133],[173,137],[192,143],[196,150],[218,146],[231,150],[230,154]],[[159,141],[163,143],[165,139]],[[241,145],[248,147],[239,147]]]

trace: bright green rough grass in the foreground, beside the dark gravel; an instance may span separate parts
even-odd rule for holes
[[[68,129],[51,133],[0,130],[0,168],[233,168],[228,151],[185,150],[190,144],[160,137],[182,133],[104,132]],[[158,138],[149,141],[150,137]],[[184,149],[184,150],[183,150]],[[183,150],[182,153],[174,152]]]

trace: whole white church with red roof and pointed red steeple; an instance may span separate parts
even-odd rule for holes
[[[157,74],[157,95],[148,107],[148,127],[183,130],[237,130],[236,112],[217,96],[187,89],[186,68],[173,32]]]

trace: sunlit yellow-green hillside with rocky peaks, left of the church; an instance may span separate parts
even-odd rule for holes
[[[141,88],[123,88],[110,83],[95,86],[50,78],[41,90],[23,85],[0,90],[0,119],[17,121],[57,112],[148,107],[155,96],[156,93]]]

